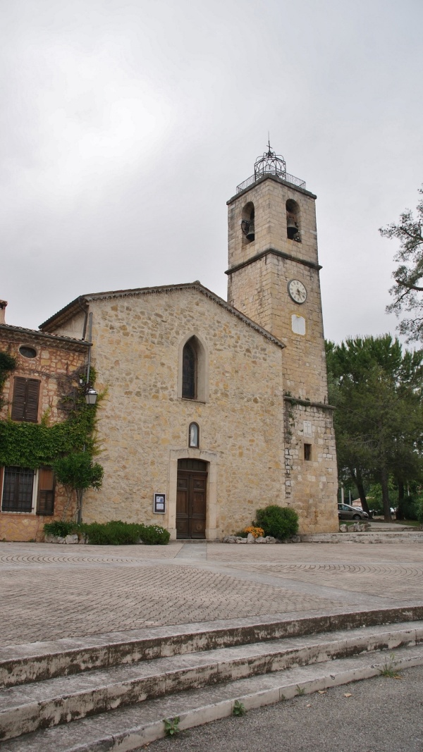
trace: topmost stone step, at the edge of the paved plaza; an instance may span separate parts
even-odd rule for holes
[[[0,647],[0,687],[258,641],[423,620],[423,607],[245,617]]]

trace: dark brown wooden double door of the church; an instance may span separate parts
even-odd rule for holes
[[[205,538],[207,462],[178,460],[176,537]]]

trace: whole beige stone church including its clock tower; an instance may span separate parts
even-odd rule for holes
[[[228,202],[227,301],[198,281],[80,296],[41,326],[91,345],[102,489],[84,521],[214,540],[291,506],[337,529],[315,196],[268,150]]]

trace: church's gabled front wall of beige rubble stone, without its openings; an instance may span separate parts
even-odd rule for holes
[[[174,535],[172,461],[183,456],[210,463],[210,538],[283,503],[281,347],[198,290],[94,299],[90,311],[97,385],[107,389],[99,410],[105,481],[85,495],[84,520],[160,523]],[[207,402],[178,397],[181,343],[191,335],[208,353]],[[192,421],[199,450],[188,450]],[[167,494],[164,518],[153,514],[154,492]]]

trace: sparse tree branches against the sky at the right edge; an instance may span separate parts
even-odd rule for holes
[[[418,193],[423,196],[423,188]],[[410,319],[400,322],[401,334],[408,335],[408,341],[423,341],[423,199],[418,202],[417,216],[413,217],[409,209],[400,215],[398,224],[390,224],[379,229],[384,238],[398,238],[400,250],[394,256],[399,266],[393,272],[394,287],[389,292],[394,302],[386,311],[394,311],[399,316],[401,311],[415,314]]]

